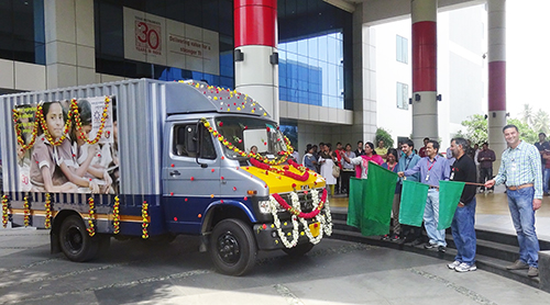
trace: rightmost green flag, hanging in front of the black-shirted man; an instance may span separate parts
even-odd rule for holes
[[[464,182],[458,181],[439,181],[438,229],[446,229],[451,226],[464,184]]]

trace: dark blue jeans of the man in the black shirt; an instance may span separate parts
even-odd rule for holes
[[[472,264],[475,262],[475,197],[463,207],[457,207],[451,223],[452,238],[458,253],[454,260]]]

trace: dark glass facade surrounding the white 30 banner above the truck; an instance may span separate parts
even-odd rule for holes
[[[234,87],[233,1],[231,0],[95,0],[96,70],[128,78],[197,79]],[[123,7],[210,30],[219,34],[220,75],[124,58]]]

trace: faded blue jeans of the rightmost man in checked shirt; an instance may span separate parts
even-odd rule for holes
[[[530,267],[538,268],[539,239],[535,231],[535,211],[532,210],[535,188],[525,188],[517,191],[508,190],[506,193],[508,194],[508,207],[510,208],[512,221],[519,244],[519,259]]]

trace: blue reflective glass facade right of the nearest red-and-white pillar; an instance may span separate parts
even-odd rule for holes
[[[320,0],[277,4],[279,99],[351,110],[352,14]]]

